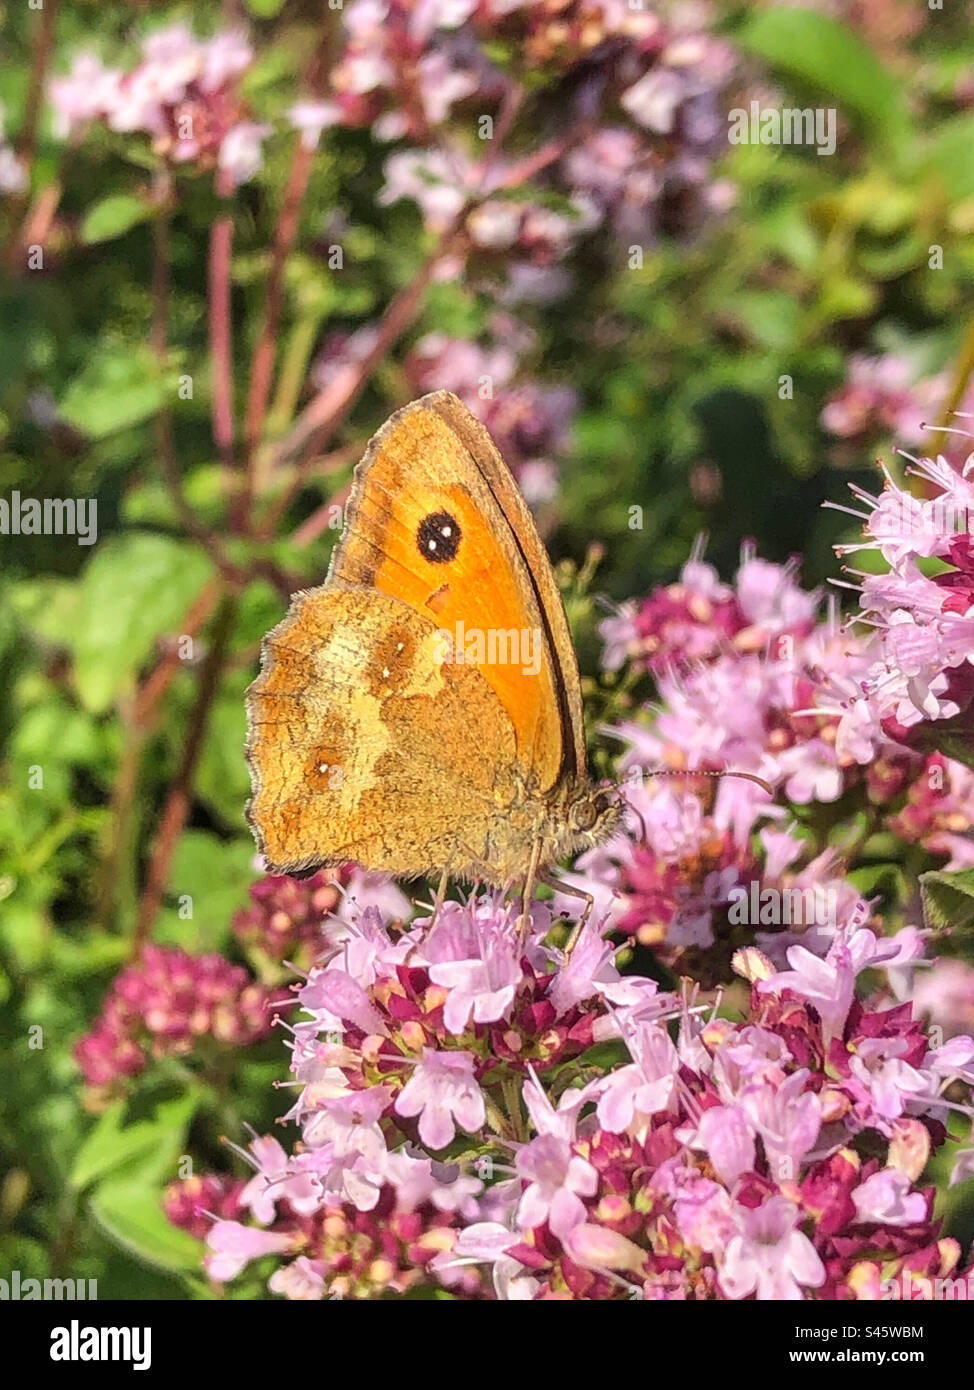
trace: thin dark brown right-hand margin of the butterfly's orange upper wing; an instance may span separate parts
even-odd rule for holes
[[[514,546],[531,578],[540,619],[545,624],[545,641],[552,653],[556,674],[560,677],[554,682],[561,724],[560,776],[564,778],[584,774],[585,724],[575,645],[571,639],[568,619],[547,552],[538,535],[528,505],[493,439],[457,396],[449,391],[434,391],[406,409],[414,410],[420,406],[434,410],[449,424],[504,514]]]

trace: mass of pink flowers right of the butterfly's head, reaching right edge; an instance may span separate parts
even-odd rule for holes
[[[964,478],[946,466],[923,467],[949,486],[948,510],[960,505],[959,493],[966,505]],[[632,816],[609,844],[582,855],[568,878],[596,897],[616,930],[703,983],[728,977],[734,951],[752,940],[748,930],[757,929],[761,949],[779,962],[799,940],[823,952],[838,924],[866,924],[870,906],[842,867],[849,851],[842,841],[824,847],[750,783],[727,778],[716,791],[707,783],[711,798],[702,799],[699,778],[646,783],[653,771],[756,773],[796,813],[853,796],[867,823],[882,817],[903,841],[945,856],[949,869],[974,863],[974,776],[956,759],[907,744],[907,726],[935,709],[946,719],[961,709],[974,646],[963,645],[968,620],[956,609],[970,605],[970,548],[945,535],[936,499],[909,498],[889,482],[882,499],[867,502],[875,507],[867,528],[896,562],[889,575],[861,577],[863,607],[874,621],[882,614],[878,631],[842,631],[834,612],[820,616],[818,596],[798,587],[791,566],[749,550],[734,585],[695,553],[679,582],[602,624],[606,667],[652,673],[660,702],[649,720],[606,730],[627,744],[620,766]],[[895,516],[916,518],[906,550]],[[921,553],[953,557],[955,569],[924,578]],[[798,924],[766,916],[767,890],[771,909],[800,891],[814,915]],[[748,910],[735,917],[731,902],[742,891]]]

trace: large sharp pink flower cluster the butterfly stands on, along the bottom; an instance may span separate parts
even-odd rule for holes
[[[931,1047],[909,1005],[856,998],[905,942],[843,929],[784,972],[743,951],[734,1023],[621,976],[592,924],[566,959],[536,908],[518,949],[514,916],[346,922],[297,990],[302,1143],[253,1143],[214,1279],[274,1252],[292,1298],[835,1300],[959,1270],[917,1179],[970,1113],[945,1093],[974,1083],[974,1040]]]

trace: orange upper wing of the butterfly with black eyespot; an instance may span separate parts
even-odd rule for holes
[[[374,436],[328,582],[395,595],[452,634],[506,710],[534,788],[584,769],[578,666],[554,574],[507,466],[456,396],[424,396]]]

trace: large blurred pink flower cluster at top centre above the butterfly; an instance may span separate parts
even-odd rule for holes
[[[552,263],[592,227],[609,222],[635,235],[656,217],[679,231],[731,200],[732,190],[711,182],[710,165],[735,57],[706,32],[707,21],[700,6],[664,19],[625,0],[353,0],[329,96],[297,103],[290,120],[311,145],[333,125],[408,142],[386,161],[382,200],[415,202],[434,229],[449,225],[472,193],[497,193],[471,218],[475,245],[513,257],[504,267],[513,296],[550,297],[564,288]],[[503,189],[518,181],[510,158],[485,165],[440,135],[465,103],[471,129],[493,139],[477,122],[495,120],[489,113],[514,96],[522,67],[542,107],[549,89],[559,93],[559,125],[579,125],[578,139],[538,167],[568,195],[567,215],[506,200]],[[570,72],[581,76],[566,106]],[[609,103],[631,124],[593,128],[593,114]]]

